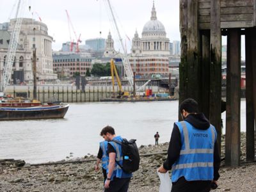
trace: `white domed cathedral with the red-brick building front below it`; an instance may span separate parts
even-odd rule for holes
[[[168,76],[170,40],[164,25],[157,20],[153,3],[150,20],[143,27],[141,38],[135,31],[129,61],[137,76]]]

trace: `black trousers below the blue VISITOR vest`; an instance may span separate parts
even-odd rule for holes
[[[177,182],[172,183],[172,192],[209,192],[211,180],[188,181],[180,177]]]

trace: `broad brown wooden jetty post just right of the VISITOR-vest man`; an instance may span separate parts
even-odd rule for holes
[[[240,165],[241,33],[228,31],[226,152],[227,166]]]

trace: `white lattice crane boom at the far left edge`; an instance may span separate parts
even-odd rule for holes
[[[9,83],[9,80],[12,74],[12,65],[15,58],[17,44],[19,41],[20,27],[22,24],[22,14],[24,12],[24,5],[25,5],[24,1],[25,0],[19,0],[17,4],[17,10],[15,14],[15,26],[12,30],[11,38],[8,46],[6,62],[3,70],[3,79],[1,81],[1,86],[0,86],[0,96],[4,95],[4,91],[6,89],[6,86]]]

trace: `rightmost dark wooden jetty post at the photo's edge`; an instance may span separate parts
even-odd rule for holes
[[[254,33],[255,35],[255,33]],[[245,31],[245,65],[246,65],[246,160],[255,159],[255,124],[253,110],[253,30]],[[255,40],[254,40],[255,41]],[[254,45],[255,46],[255,45]],[[254,48],[255,49],[255,48]]]

